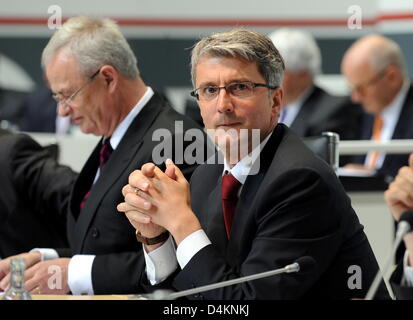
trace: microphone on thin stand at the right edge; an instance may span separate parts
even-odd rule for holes
[[[399,219],[399,223],[397,224],[397,231],[396,231],[396,238],[393,243],[392,250],[390,251],[390,255],[386,260],[386,264],[384,267],[383,271],[383,280],[384,283],[386,284],[387,290],[390,293],[390,297],[395,300],[395,296],[393,293],[393,290],[391,289],[389,279],[390,276],[387,274],[389,273],[389,269],[391,267],[394,255],[396,254],[397,248],[400,245],[400,242],[403,240],[403,237],[406,235],[406,233],[410,232],[412,230],[413,226],[413,211],[406,211],[404,212]],[[381,272],[380,269],[377,271],[376,277],[374,278],[373,283],[370,286],[369,291],[367,292],[367,295],[365,297],[366,300],[372,300],[374,295],[376,294],[377,289],[379,288],[381,281]]]

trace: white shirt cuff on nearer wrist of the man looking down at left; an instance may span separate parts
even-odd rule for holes
[[[69,262],[68,280],[74,295],[93,295],[92,264],[95,255],[77,254]]]

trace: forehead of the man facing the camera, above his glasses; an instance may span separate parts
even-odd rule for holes
[[[263,81],[256,62],[242,58],[203,56],[196,66],[196,84]]]

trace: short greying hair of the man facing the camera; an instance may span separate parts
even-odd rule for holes
[[[242,58],[256,62],[258,71],[271,86],[280,87],[284,75],[284,61],[271,40],[260,33],[233,29],[201,39],[192,49],[191,76],[195,87],[196,66],[201,57]]]

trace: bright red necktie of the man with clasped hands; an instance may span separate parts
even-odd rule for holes
[[[232,174],[224,174],[222,177],[222,210],[224,212],[225,230],[229,238],[232,220],[238,201],[238,190],[241,183]]]

